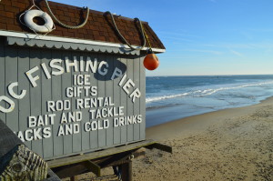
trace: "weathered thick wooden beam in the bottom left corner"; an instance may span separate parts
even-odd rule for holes
[[[44,180],[47,164],[0,120],[0,180]]]

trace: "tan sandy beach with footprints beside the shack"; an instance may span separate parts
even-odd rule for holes
[[[273,180],[273,97],[147,129],[173,154],[147,150],[134,180]]]

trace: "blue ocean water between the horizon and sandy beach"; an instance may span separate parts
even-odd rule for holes
[[[273,75],[147,77],[147,127],[273,96]]]

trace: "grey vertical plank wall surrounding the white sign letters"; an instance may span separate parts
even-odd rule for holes
[[[97,72],[93,74],[90,70],[88,72],[75,73],[72,68],[70,73],[51,75],[52,78],[47,79],[41,67],[41,64],[45,63],[51,73],[52,69],[49,66],[49,62],[52,59],[62,59],[62,66],[65,67],[66,57],[68,57],[70,61],[73,61],[74,58],[76,58],[77,61],[86,61],[87,56],[89,56],[92,61],[96,58],[98,64],[101,61],[106,61],[109,65],[107,75],[98,75]],[[8,96],[11,98],[6,91],[6,87],[13,82],[18,82],[19,84],[18,87],[15,87],[15,92],[18,91],[18,93],[20,93],[21,90],[26,90],[26,95],[23,99],[12,99],[15,101],[15,110],[8,114],[0,112],[0,119],[14,132],[18,132],[19,130],[25,131],[29,129],[27,124],[28,116],[56,114],[54,126],[44,126],[50,127],[52,136],[40,140],[25,141],[26,146],[30,147],[38,155],[43,156],[45,160],[144,140],[146,129],[146,77],[142,62],[143,57],[137,55],[99,54],[5,45],[5,37],[0,37],[0,96]],[[33,87],[29,83],[25,72],[35,66],[39,67],[39,71],[37,71],[35,75],[39,75],[40,79],[36,81],[37,86]],[[135,103],[132,102],[132,99],[126,94],[122,86],[118,85],[122,77],[116,77],[114,80],[111,80],[115,67],[123,70],[123,75],[126,74],[126,80],[130,78],[135,83],[134,88],[129,88],[130,91],[133,91],[135,88],[141,91],[142,96],[136,99]],[[90,82],[92,86],[97,86],[98,89],[96,97],[111,97],[115,107],[124,106],[123,117],[141,115],[142,123],[114,127],[115,117],[107,117],[110,124],[109,128],[86,132],[84,128],[85,123],[98,120],[90,119],[89,109],[76,110],[76,99],[86,98],[86,96],[66,97],[66,87],[74,86],[73,75],[76,74],[91,75]],[[95,96],[92,96],[92,98],[94,97]],[[72,103],[71,109],[56,111],[54,113],[47,112],[45,103],[50,100],[70,100]],[[5,103],[0,103],[0,106],[5,106]],[[103,107],[93,109],[98,108]],[[83,120],[79,123],[80,133],[57,136],[59,126],[64,125],[60,124],[62,114],[73,111],[81,111],[83,113]]]

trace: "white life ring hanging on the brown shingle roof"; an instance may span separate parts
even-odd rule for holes
[[[33,21],[33,18],[39,16],[44,19],[45,25],[37,25]],[[29,10],[24,15],[25,25],[27,25],[30,29],[34,30],[38,33],[48,33],[52,31],[53,21],[47,13],[41,10]]]

